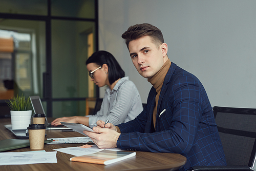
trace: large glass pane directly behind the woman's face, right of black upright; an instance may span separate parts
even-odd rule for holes
[[[52,94],[53,98],[88,97],[86,60],[88,37],[94,34],[94,22],[52,21]]]

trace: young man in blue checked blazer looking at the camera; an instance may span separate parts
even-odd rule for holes
[[[98,121],[85,132],[99,148],[119,147],[187,158],[180,170],[196,165],[226,165],[214,113],[201,82],[170,62],[161,31],[150,24],[131,26],[122,34],[135,68],[153,87],[134,120],[114,126]]]

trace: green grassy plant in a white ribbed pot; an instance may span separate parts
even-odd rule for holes
[[[27,129],[31,123],[31,102],[25,96],[12,97],[6,101],[11,109],[11,123],[12,129]]]

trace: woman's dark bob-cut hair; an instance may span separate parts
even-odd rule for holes
[[[113,84],[119,78],[124,77],[124,71],[122,70],[121,66],[118,64],[115,57],[107,51],[97,51],[94,52],[90,58],[86,61],[86,65],[90,63],[95,63],[99,66],[103,64],[108,65],[109,67],[109,82]]]

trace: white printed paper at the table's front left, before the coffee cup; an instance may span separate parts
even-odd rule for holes
[[[36,163],[57,163],[57,151],[51,152],[5,152],[0,153],[0,165],[20,165]]]

